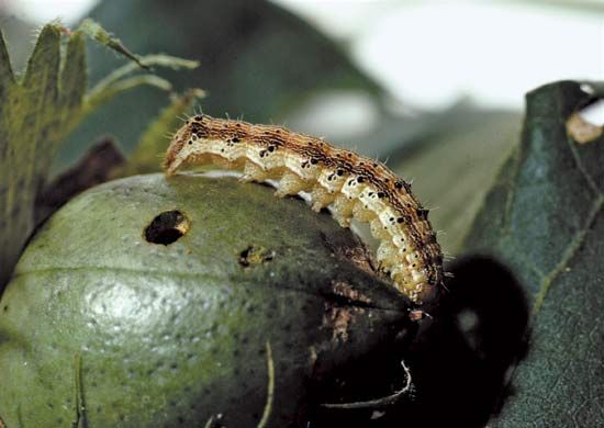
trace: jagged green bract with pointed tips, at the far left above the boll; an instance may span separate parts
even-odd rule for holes
[[[92,21],[75,32],[48,24],[40,33],[26,71],[15,76],[0,34],[0,290],[34,227],[35,194],[65,136],[86,114],[130,88],[170,89],[167,81],[150,75],[130,79],[120,75],[87,93],[85,35],[138,60]],[[161,59],[169,66],[194,66],[178,58]]]

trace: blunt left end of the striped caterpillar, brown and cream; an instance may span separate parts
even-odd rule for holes
[[[198,114],[190,117],[176,132],[164,160],[164,169],[168,176],[174,174],[181,165],[186,164],[195,153],[200,151],[200,146],[208,136],[208,122],[210,122],[208,116]]]

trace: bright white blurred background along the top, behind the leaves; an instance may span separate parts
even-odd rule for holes
[[[96,0],[0,2],[37,23],[69,24]],[[521,109],[524,93],[545,82],[604,80],[604,2],[275,2],[338,40],[394,99],[418,108],[470,97]]]

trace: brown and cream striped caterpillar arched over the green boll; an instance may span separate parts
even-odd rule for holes
[[[434,301],[443,284],[443,252],[428,210],[411,185],[383,164],[284,127],[190,117],[167,149],[164,168],[213,164],[243,170],[244,182],[278,180],[277,196],[309,192],[314,211],[331,205],[348,227],[369,223],[379,239],[377,260],[393,285],[417,304]]]

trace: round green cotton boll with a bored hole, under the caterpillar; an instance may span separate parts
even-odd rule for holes
[[[0,301],[0,418],[305,426],[309,391],[394,358],[409,327],[407,300],[365,255],[328,214],[231,177],[93,188],[38,230]]]

